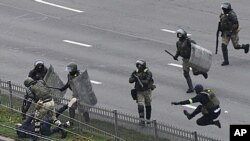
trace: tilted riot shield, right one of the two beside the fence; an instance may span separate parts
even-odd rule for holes
[[[85,103],[88,105],[95,105],[97,103],[97,98],[92,89],[92,85],[89,79],[87,70],[82,72],[79,76],[75,77],[69,82],[72,92],[79,99],[80,103]]]

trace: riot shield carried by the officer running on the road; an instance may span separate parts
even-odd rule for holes
[[[212,65],[212,52],[192,43],[189,65],[198,71],[208,72]]]

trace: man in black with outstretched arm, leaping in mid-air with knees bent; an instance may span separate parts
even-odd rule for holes
[[[184,110],[184,114],[187,116],[187,118],[190,120],[193,117],[195,117],[197,114],[202,113],[203,116],[199,118],[196,123],[200,126],[206,126],[206,125],[216,125],[219,128],[221,128],[221,124],[219,120],[214,121],[217,117],[219,117],[221,109],[220,109],[220,101],[215,96],[213,91],[211,89],[203,89],[203,86],[198,84],[195,86],[195,92],[196,96],[193,98],[190,98],[189,100],[180,101],[180,102],[172,102],[173,105],[186,105],[186,104],[192,104],[196,102],[200,102],[201,105],[199,105],[193,113],[188,113],[186,110]]]

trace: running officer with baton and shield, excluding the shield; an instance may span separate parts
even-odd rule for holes
[[[179,56],[183,58],[182,59],[183,75],[189,87],[187,90],[187,93],[192,93],[194,90],[193,90],[192,79],[189,75],[189,70],[190,70],[189,59],[191,55],[191,43],[193,44],[196,44],[196,43],[195,41],[187,37],[187,32],[185,30],[178,29],[176,33],[177,33],[177,38],[179,38],[179,40],[176,42],[177,51],[173,58],[174,60],[178,60]],[[207,79],[208,77],[208,74],[206,72],[200,72],[196,70],[195,68],[192,68],[192,71],[194,75],[202,74],[205,79]]]

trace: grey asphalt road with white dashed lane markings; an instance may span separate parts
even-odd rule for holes
[[[232,1],[232,0],[230,0]],[[193,83],[214,89],[221,101],[222,128],[199,127],[183,115],[187,84],[180,64],[164,52],[175,53],[176,35],[184,28],[199,45],[215,50],[222,1],[207,0],[0,0],[0,78],[23,83],[33,63],[52,64],[65,82],[65,66],[76,62],[88,69],[98,105],[137,115],[128,83],[137,59],[145,59],[157,85],[152,119],[204,135],[229,140],[230,124],[250,123],[250,58],[229,45],[230,65],[213,55],[209,77],[191,76]],[[233,2],[239,17],[240,42],[249,42],[250,1]],[[163,31],[165,29],[165,31]],[[166,32],[166,30],[170,30]],[[76,43],[77,42],[77,43]],[[70,93],[69,93],[70,94]],[[193,106],[197,106],[193,104]]]

